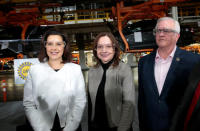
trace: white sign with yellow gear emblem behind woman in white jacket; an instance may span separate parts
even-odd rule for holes
[[[38,58],[14,59],[15,84],[24,84],[31,65],[39,63]]]

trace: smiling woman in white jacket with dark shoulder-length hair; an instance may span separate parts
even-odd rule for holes
[[[75,131],[86,103],[85,84],[80,66],[71,63],[66,37],[47,31],[38,58],[24,85],[28,121],[34,131]]]

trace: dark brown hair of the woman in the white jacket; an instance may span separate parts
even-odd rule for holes
[[[67,37],[56,29],[50,29],[50,30],[48,30],[47,32],[44,33],[41,44],[40,44],[40,52],[39,52],[39,55],[38,55],[39,61],[45,62],[45,61],[49,60],[49,57],[48,57],[47,52],[46,52],[45,42],[47,41],[47,38],[50,35],[59,35],[59,36],[62,37],[63,41],[66,43],[66,45],[64,47],[64,52],[63,52],[63,55],[62,55],[62,63],[71,62],[72,55],[71,55],[70,45],[68,43]]]

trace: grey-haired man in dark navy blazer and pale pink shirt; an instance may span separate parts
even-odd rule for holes
[[[160,18],[154,33],[158,49],[138,64],[139,124],[141,131],[168,131],[190,71],[200,56],[176,46],[180,37],[178,21]]]

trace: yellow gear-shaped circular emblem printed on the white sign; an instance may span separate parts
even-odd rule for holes
[[[26,80],[26,77],[28,75],[28,71],[31,67],[32,63],[31,62],[23,62],[19,67],[18,67],[18,75],[20,78],[23,80]]]

